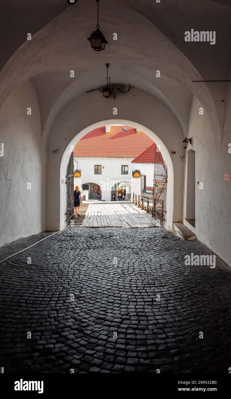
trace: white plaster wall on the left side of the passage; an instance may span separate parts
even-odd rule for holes
[[[27,108],[31,115],[27,115]],[[42,231],[41,128],[35,89],[19,87],[0,110],[0,246]],[[31,190],[27,190],[27,183]]]

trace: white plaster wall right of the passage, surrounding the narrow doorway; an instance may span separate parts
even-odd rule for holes
[[[223,181],[223,173],[231,173],[231,154],[228,144],[231,142],[231,94],[227,96],[227,123],[223,132],[223,144],[212,135],[211,124],[204,110],[199,115],[201,103],[194,97],[190,113],[188,144],[184,170],[184,224],[195,232],[197,238],[217,253],[231,266],[231,183]],[[187,188],[187,152],[192,148],[196,156],[196,225],[192,227],[186,221]],[[203,190],[197,182],[203,183]]]

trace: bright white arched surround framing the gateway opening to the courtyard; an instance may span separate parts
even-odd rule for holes
[[[75,146],[75,144],[85,136],[88,132],[93,129],[96,129],[100,126],[105,125],[112,125],[112,124],[119,124],[125,126],[131,126],[136,128],[137,130],[143,131],[147,136],[151,137],[152,140],[159,146],[161,150],[162,157],[166,162],[168,168],[168,184],[167,184],[167,193],[166,193],[166,223],[165,227],[168,230],[172,230],[172,221],[173,221],[173,210],[174,210],[174,172],[173,172],[173,165],[170,154],[168,149],[162,142],[162,140],[155,134],[153,131],[149,130],[145,126],[132,122],[131,120],[124,120],[124,119],[111,119],[111,120],[102,120],[100,122],[94,123],[90,126],[84,128],[81,132],[76,134],[76,136],[70,141],[69,145],[67,146],[66,150],[64,151],[61,165],[60,165],[60,220],[59,220],[59,229],[65,227],[65,205],[66,205],[66,191],[65,191],[65,184],[62,184],[63,176],[66,174],[67,164],[70,158],[70,154]]]

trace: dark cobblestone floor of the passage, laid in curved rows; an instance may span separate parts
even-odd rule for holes
[[[215,269],[185,266],[191,253],[212,254],[159,227],[69,227],[0,264],[0,367],[228,373],[231,269],[218,257]]]

